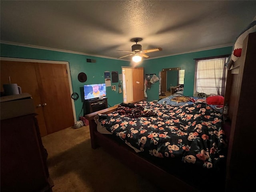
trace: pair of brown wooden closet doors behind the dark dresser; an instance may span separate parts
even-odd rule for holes
[[[66,64],[14,62],[1,60],[3,84],[16,83],[33,100],[41,136],[74,125]]]

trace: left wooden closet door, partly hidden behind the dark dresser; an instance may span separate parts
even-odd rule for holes
[[[36,113],[38,114],[36,118],[38,120],[40,134],[41,136],[46,136],[48,133],[46,130],[44,112],[42,107],[38,107],[42,102],[39,94],[34,64],[29,62],[3,60],[1,60],[0,63],[1,92],[4,91],[3,84],[8,84],[10,77],[11,83],[16,83],[21,87],[22,93],[30,94],[33,98]]]

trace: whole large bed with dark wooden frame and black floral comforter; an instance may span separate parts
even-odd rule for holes
[[[250,186],[253,187],[256,170],[254,158],[256,126],[253,120],[256,115],[254,111],[256,106],[255,102],[248,104],[248,100],[254,100],[251,91],[256,90],[256,84],[251,83],[251,78],[256,70],[255,44],[256,33],[250,33],[244,39],[241,57],[232,64],[228,71],[224,97],[226,108],[223,115],[206,103],[170,106],[141,100],[133,102],[134,105],[131,104],[130,106],[133,108],[139,104],[144,108],[143,111],[137,110],[136,114],[130,113],[129,109],[124,110],[122,107],[128,107],[126,104],[123,104],[122,107],[115,106],[86,115],[86,119],[89,120],[92,148],[104,148],[131,169],[166,191],[242,191],[250,188]],[[194,108],[197,109],[196,113],[194,113]],[[202,110],[202,108],[207,110]],[[120,117],[125,114],[127,115],[127,121]],[[164,114],[166,117],[163,117]],[[192,116],[188,116],[188,114]],[[187,126],[193,124],[196,114],[202,114],[201,117],[205,117],[196,119],[194,126],[201,124],[201,130],[203,131],[210,128],[210,136],[206,133],[208,131],[204,132],[205,135],[196,131],[198,128],[200,129],[198,126],[193,127],[193,129]],[[97,115],[99,118],[101,116],[101,124],[105,127],[108,123],[112,123],[112,126],[110,124],[107,129],[108,132],[114,134],[101,134],[97,131],[97,124],[94,120]],[[139,117],[139,115],[141,116]],[[155,119],[159,116],[165,118],[165,122],[170,121],[171,124],[168,125],[168,128],[162,125],[159,126],[158,124],[162,124],[160,121],[158,121],[158,124],[154,124],[157,122]],[[169,116],[174,118],[173,121]],[[133,118],[133,120],[131,121],[130,118]],[[181,123],[182,118],[186,120],[187,124],[185,122]],[[115,126],[117,121],[120,124],[118,123],[118,126]],[[133,127],[134,129],[126,130],[125,128],[126,125],[134,123],[138,126],[140,122],[146,122],[148,130],[152,132],[153,140],[145,140],[144,137],[149,138],[150,135],[146,133],[140,140],[137,138],[136,146],[132,144],[131,138],[128,139],[128,134],[136,137],[137,129]],[[153,130],[156,127],[162,131],[158,134],[159,140],[154,137],[156,135]],[[118,130],[118,128],[124,128],[125,134],[124,131]],[[177,128],[179,130],[176,130]],[[145,127],[142,126],[138,131],[145,134],[144,129]],[[176,134],[175,142],[170,140],[171,135],[169,135],[167,129]],[[193,133],[193,131],[187,132],[186,129],[192,129],[194,133],[197,132],[200,139],[196,138],[194,140],[194,138],[191,138],[195,136],[193,135],[190,137],[192,140],[186,140],[190,143],[183,143],[186,136],[188,137]],[[160,136],[160,134],[162,135]],[[168,137],[167,140],[166,137]],[[193,141],[197,141],[199,145]],[[159,146],[154,146],[156,142],[162,144],[160,150],[158,150]],[[152,146],[156,148],[150,149]],[[205,150],[204,146],[207,146],[206,148],[209,151]],[[146,151],[146,153],[142,153],[143,151]],[[172,158],[172,156],[177,158]],[[196,161],[194,161],[195,156]]]

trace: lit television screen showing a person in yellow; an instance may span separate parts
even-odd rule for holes
[[[84,85],[84,99],[94,99],[106,96],[106,84]]]

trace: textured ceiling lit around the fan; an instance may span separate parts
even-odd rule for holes
[[[4,1],[2,43],[108,58],[142,38],[150,58],[232,46],[256,16],[256,1]],[[150,59],[149,58],[149,59]],[[130,56],[122,58],[130,60]]]

